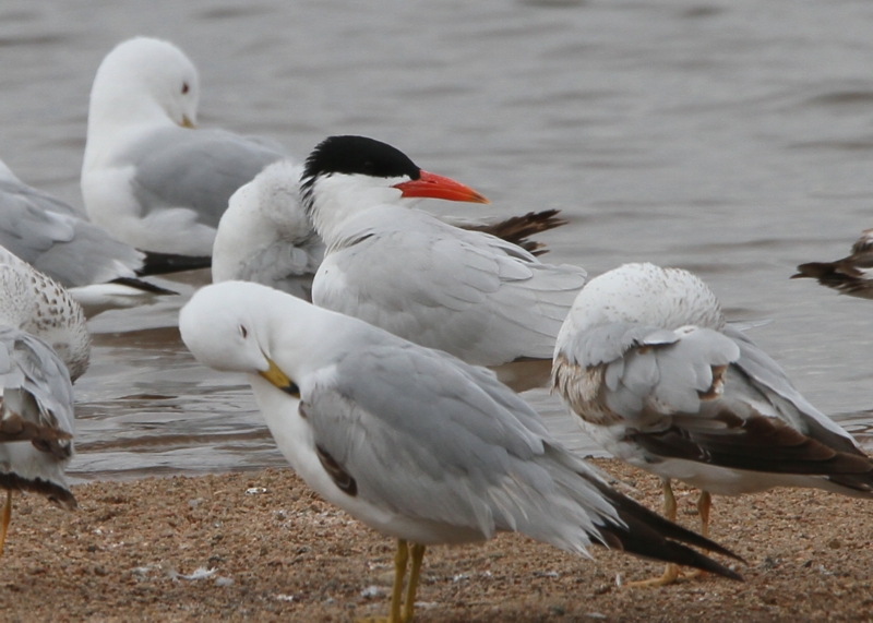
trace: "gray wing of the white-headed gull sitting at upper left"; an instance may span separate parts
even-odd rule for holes
[[[119,159],[135,167],[132,185],[141,216],[187,207],[199,223],[218,227],[230,195],[284,157],[253,137],[172,127],[148,134]]]

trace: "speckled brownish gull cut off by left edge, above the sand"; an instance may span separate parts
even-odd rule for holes
[[[84,313],[67,290],[0,247],[0,553],[12,492],[75,507],[63,470],[73,454],[72,381],[87,368]]]

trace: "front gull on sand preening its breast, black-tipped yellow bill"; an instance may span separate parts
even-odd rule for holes
[[[427,546],[498,531],[739,577],[680,542],[729,552],[612,490],[486,369],[251,283],[202,288],[179,330],[205,366],[248,373],[273,438],[310,487],[398,539],[392,622],[411,620]]]

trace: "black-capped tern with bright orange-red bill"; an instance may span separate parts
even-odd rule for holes
[[[421,197],[487,200],[372,139],[326,139],[307,159],[301,185],[327,245],[315,304],[469,363],[524,362],[521,374],[498,369],[518,390],[548,379],[584,269],[542,264],[515,244],[410,208]]]

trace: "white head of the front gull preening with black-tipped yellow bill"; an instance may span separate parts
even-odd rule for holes
[[[179,332],[194,358],[226,372],[263,373],[271,368],[264,352],[267,336],[261,292],[242,281],[198,290],[179,312]],[[267,349],[268,350],[268,349]]]

